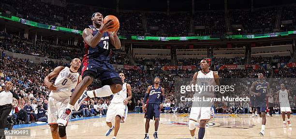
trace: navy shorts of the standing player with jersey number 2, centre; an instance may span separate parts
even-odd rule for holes
[[[146,119],[151,119],[155,120],[155,118],[160,118],[160,113],[161,113],[161,109],[160,109],[160,104],[153,104],[153,103],[148,103],[146,106],[146,112],[145,112],[145,118]]]

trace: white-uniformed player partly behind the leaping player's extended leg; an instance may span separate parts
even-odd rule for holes
[[[127,104],[128,100],[132,98],[132,87],[130,84],[125,83],[124,73],[119,73],[119,77],[122,80],[122,90],[118,93],[115,93],[111,103],[108,107],[107,116],[106,116],[106,124],[110,127],[110,129],[106,132],[106,136],[109,136],[111,131],[115,128],[114,136],[112,139],[116,139],[120,122],[124,123],[127,117]],[[128,94],[128,97],[126,97]],[[112,121],[115,119],[115,126],[112,125]]]

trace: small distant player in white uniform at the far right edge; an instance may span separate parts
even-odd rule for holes
[[[281,84],[281,90],[277,92],[277,103],[280,102],[280,108],[281,108],[281,118],[283,122],[283,127],[287,127],[286,121],[285,121],[285,114],[287,112],[287,123],[289,126],[292,126],[290,122],[290,113],[291,113],[291,108],[290,108],[290,102],[289,102],[289,95],[290,92],[289,90],[285,89],[284,84]]]

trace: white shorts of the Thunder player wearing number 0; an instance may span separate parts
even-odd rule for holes
[[[62,117],[64,110],[70,102],[70,97],[55,99],[48,98],[48,124],[57,124],[59,118]]]

